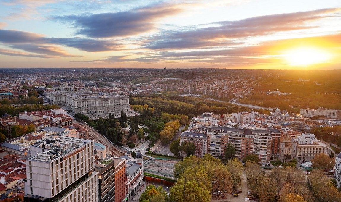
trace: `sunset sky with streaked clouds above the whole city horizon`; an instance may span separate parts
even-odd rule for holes
[[[340,0],[0,0],[0,68],[341,69]]]

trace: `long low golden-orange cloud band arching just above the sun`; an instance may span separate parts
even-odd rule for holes
[[[160,51],[155,54],[147,53],[146,56],[135,55],[111,56],[95,61],[71,61],[71,62],[97,62],[97,63],[193,63],[215,64],[225,67],[251,66],[251,65],[278,65],[285,66],[285,60],[281,56],[282,51],[300,46],[310,46],[332,51],[340,54],[341,33],[327,36],[292,38],[266,41],[255,46],[238,48],[226,48],[221,50],[201,51]]]

